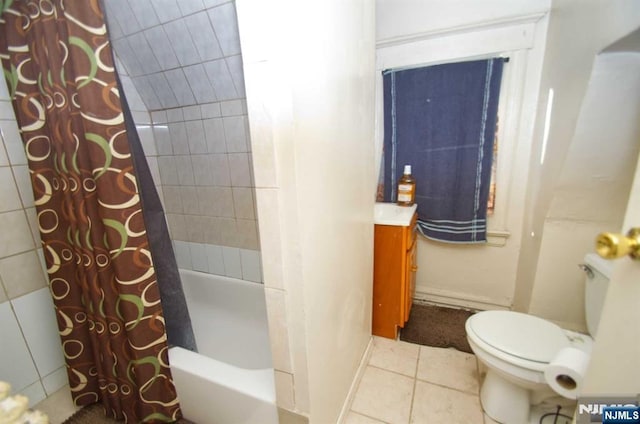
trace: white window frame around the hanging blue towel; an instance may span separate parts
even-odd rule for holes
[[[528,52],[535,43],[537,18],[478,26],[435,34],[417,34],[402,40],[379,41],[376,46],[376,176],[384,137],[382,71],[469,60],[508,58],[503,68],[498,105],[498,156],[494,212],[487,216],[489,245],[504,246],[510,236],[508,215],[514,164],[522,122]],[[418,182],[419,183],[419,182]]]

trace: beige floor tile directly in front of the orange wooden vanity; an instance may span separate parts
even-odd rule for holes
[[[369,365],[415,377],[419,353],[418,345],[374,337]]]

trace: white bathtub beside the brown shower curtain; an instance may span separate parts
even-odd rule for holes
[[[197,424],[277,424],[264,287],[180,270],[198,353],[172,347],[184,417]]]

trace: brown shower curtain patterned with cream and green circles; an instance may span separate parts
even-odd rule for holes
[[[180,417],[153,261],[98,0],[0,0],[0,58],[22,132],[77,405]]]

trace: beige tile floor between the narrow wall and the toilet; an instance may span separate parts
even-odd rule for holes
[[[475,355],[374,337],[345,424],[493,424],[479,379]]]

